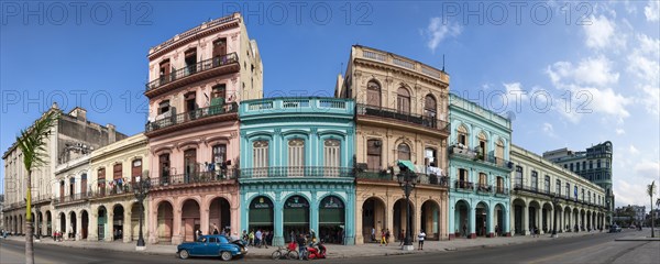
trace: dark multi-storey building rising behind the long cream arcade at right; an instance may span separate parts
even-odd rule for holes
[[[573,152],[564,148],[549,151],[543,153],[543,158],[563,166],[585,179],[597,184],[605,190],[604,199],[607,208],[605,223],[612,222],[614,211],[614,193],[612,190],[612,142],[606,141],[601,144],[587,147],[586,151]]]

